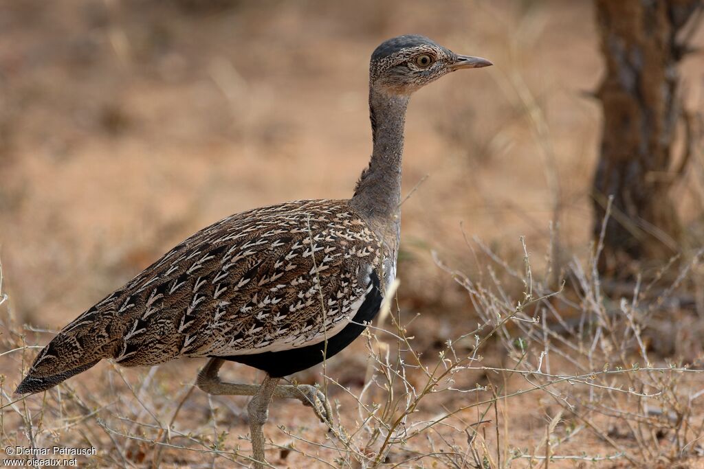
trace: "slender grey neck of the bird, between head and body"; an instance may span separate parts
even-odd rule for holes
[[[400,223],[403,125],[407,107],[408,96],[370,89],[374,149],[369,167],[357,182],[351,204],[373,224],[394,226]]]

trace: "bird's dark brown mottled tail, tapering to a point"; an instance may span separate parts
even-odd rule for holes
[[[97,313],[97,314],[96,314]],[[93,315],[95,314],[95,315]],[[115,355],[116,340],[110,314],[86,311],[63,328],[34,359],[16,394],[42,392]]]

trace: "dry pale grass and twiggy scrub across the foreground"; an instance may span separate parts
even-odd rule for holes
[[[613,302],[594,275],[598,246],[590,264],[570,264],[569,293],[536,281],[525,244],[523,269],[479,241],[470,246],[491,259],[479,278],[438,263],[466,290],[477,328],[449,335],[426,356],[409,333],[413,320],[404,321],[408,315],[396,308],[389,314],[386,304],[381,323],[365,334],[363,386],[339,383],[339,366],[322,368],[336,413],[327,435],[307,409],[291,416],[294,404],[272,406],[272,464],[508,468],[623,461],[672,467],[704,451],[699,359],[672,361],[647,345],[652,320],[677,299],[674,292],[701,253],[665,293],[651,297],[655,285],[636,285],[630,299]],[[510,293],[515,285],[522,285],[520,297]],[[26,345],[1,298],[4,355],[15,362],[22,357],[26,368],[36,346]],[[497,355],[503,359],[497,362]],[[29,398],[13,400],[15,383],[4,382],[2,445],[92,446],[97,465],[247,465],[241,401],[176,383],[169,375],[180,366],[167,372],[101,368],[89,372],[97,383],[76,378]],[[529,435],[521,423],[527,407],[543,414]]]

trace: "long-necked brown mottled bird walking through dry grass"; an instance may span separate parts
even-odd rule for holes
[[[15,392],[48,390],[103,359],[154,366],[206,357],[201,390],[252,397],[256,467],[265,461],[262,427],[272,398],[299,399],[329,423],[318,387],[279,381],[347,347],[394,282],[411,94],[455,70],[489,65],[420,34],[382,42],[370,59],[372,155],[351,198],[256,208],[195,233],[61,329]],[[265,377],[260,385],[222,382],[225,361]]]

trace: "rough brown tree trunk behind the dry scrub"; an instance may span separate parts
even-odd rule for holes
[[[681,113],[677,32],[702,0],[596,0],[606,75],[601,158],[593,180],[600,236],[612,210],[599,269],[629,276],[679,252],[681,225],[670,198],[672,143]]]

